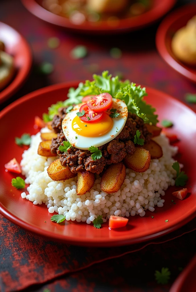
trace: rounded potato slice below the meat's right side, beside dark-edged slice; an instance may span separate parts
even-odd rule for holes
[[[150,167],[150,152],[142,147],[136,147],[134,154],[124,158],[125,166],[136,171],[144,172]]]

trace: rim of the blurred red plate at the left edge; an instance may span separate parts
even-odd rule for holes
[[[14,79],[11,81],[11,83],[6,86],[2,91],[0,91],[0,103],[8,99],[13,93],[15,93],[24,83],[26,78],[29,75],[31,65],[32,65],[32,54],[31,54],[31,48],[29,44],[27,43],[26,39],[18,32],[16,29],[11,27],[10,25],[7,25],[4,22],[0,22],[0,26],[6,26],[8,29],[14,30],[15,33],[20,35],[20,41],[22,43],[22,46],[24,47],[25,50],[25,56],[26,56],[26,62],[22,67],[18,69],[18,72],[16,73],[16,76]]]

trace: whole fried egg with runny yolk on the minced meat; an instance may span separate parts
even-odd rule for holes
[[[112,98],[112,106],[103,112],[99,121],[85,122],[78,116],[82,104],[76,105],[66,114],[62,121],[62,130],[70,144],[78,149],[87,150],[90,146],[99,147],[113,140],[125,126],[128,110],[127,105],[120,99]],[[110,117],[110,110],[116,109],[119,116]]]

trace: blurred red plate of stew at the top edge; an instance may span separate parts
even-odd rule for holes
[[[153,0],[152,7],[149,11],[142,15],[135,16],[127,19],[119,19],[118,23],[111,26],[107,21],[89,22],[85,21],[80,25],[75,25],[69,21],[68,18],[56,15],[46,10],[41,6],[42,0],[21,0],[24,6],[37,17],[53,23],[55,25],[66,27],[68,29],[76,30],[85,33],[120,33],[130,30],[135,30],[155,22],[167,13],[174,5],[176,0]]]

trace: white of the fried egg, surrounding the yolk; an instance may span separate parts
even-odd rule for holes
[[[113,118],[113,127],[112,129],[99,137],[84,137],[77,134],[72,129],[72,121],[76,117],[76,113],[79,112],[79,109],[82,104],[76,105],[69,113],[66,114],[62,121],[62,130],[70,142],[70,144],[78,149],[87,150],[90,146],[99,147],[113,140],[118,134],[122,131],[127,121],[128,110],[127,105],[124,101],[120,99],[112,98],[113,103],[110,109],[115,108],[120,114],[117,118]],[[110,109],[106,112],[110,114]],[[88,123],[87,123],[88,124]],[[77,137],[77,138],[76,138]]]

